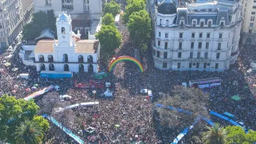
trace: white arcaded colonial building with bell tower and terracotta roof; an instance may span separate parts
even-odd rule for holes
[[[80,40],[71,28],[72,20],[65,13],[56,20],[58,40],[40,40],[35,47],[20,51],[25,65],[36,70],[97,72],[100,44],[97,40]],[[27,50],[27,51],[26,51]]]

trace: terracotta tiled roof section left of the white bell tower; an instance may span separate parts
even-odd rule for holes
[[[53,52],[54,40],[40,40],[36,44],[35,52]]]

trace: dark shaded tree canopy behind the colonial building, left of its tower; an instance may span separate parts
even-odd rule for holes
[[[23,28],[23,37],[27,40],[34,40],[40,35],[41,31],[46,28],[51,28],[56,31],[56,18],[54,18],[53,10],[45,12],[33,13],[32,21],[26,24]]]

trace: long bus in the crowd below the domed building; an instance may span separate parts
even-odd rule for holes
[[[189,81],[190,88],[211,88],[214,86],[220,86],[221,79],[220,77],[212,77],[208,79],[196,79]]]

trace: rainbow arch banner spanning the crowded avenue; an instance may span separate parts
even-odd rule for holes
[[[135,63],[140,68],[140,72],[144,72],[143,66],[141,65],[140,61],[138,61],[136,58],[133,58],[131,56],[120,56],[120,57],[116,58],[116,60],[113,60],[109,64],[108,71],[112,72],[112,70],[115,67],[116,63],[118,63],[120,61],[132,61],[133,63]]]

